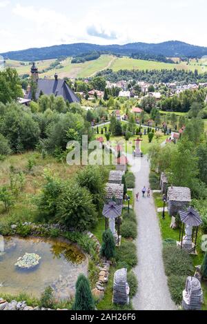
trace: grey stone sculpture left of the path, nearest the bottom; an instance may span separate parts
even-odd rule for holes
[[[127,269],[120,269],[115,272],[113,303],[118,305],[129,304],[130,288],[127,282]]]

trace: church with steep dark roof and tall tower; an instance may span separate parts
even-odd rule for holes
[[[32,64],[31,77],[34,82],[37,83],[36,99],[39,99],[41,94],[54,94],[55,97],[63,97],[69,103],[79,103],[79,98],[76,96],[65,80],[58,79],[57,73],[55,73],[55,79],[39,79],[39,72],[35,65]],[[25,99],[32,100],[32,90],[28,87]]]

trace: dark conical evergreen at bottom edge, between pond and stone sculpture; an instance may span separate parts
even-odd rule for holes
[[[95,310],[90,284],[86,276],[80,274],[75,285],[75,303],[72,310]]]

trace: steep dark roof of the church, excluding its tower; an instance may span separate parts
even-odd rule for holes
[[[43,94],[55,94],[55,97],[62,96],[69,103],[79,102],[78,97],[75,93],[68,87],[65,80],[50,80],[50,79],[38,79],[37,81],[37,92],[36,99],[39,98],[40,92]],[[32,99],[32,92],[28,94],[28,99]]]

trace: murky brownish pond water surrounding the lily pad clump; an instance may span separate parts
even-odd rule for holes
[[[26,253],[38,254],[39,265],[31,270],[15,266]],[[1,294],[30,294],[39,298],[49,285],[55,297],[68,299],[75,293],[79,274],[87,276],[88,259],[79,247],[60,239],[18,237],[4,238],[4,253],[0,252]]]

